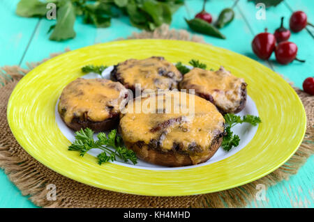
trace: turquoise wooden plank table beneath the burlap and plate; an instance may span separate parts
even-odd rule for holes
[[[112,25],[107,29],[96,29],[94,26],[83,24],[81,19],[77,19],[75,22],[77,37],[74,40],[52,42],[48,40],[47,31],[54,21],[18,17],[15,15],[17,2],[18,0],[0,1],[0,66],[22,65],[22,67],[26,67],[27,62],[40,61],[47,58],[50,53],[63,51],[66,47],[77,49],[98,42],[126,37],[133,31],[140,31],[130,25],[128,17],[112,19]],[[232,6],[232,3],[232,0],[211,0],[207,4],[207,11],[217,16],[220,10]],[[174,14],[170,28],[188,29],[184,17],[192,18],[200,12],[201,8],[202,1],[186,1],[186,6],[182,6]],[[275,72],[283,74],[293,81],[295,86],[301,88],[306,77],[314,76],[314,29],[310,27],[307,31],[293,33],[290,38],[290,41],[295,42],[299,47],[299,58],[306,59],[306,63],[293,62],[289,65],[280,65],[276,63],[274,54],[269,61],[260,61],[251,50],[251,41],[254,35],[262,32],[265,27],[273,32],[278,28],[281,16],[285,16],[285,27],[288,27],[288,18],[294,10],[303,10],[308,15],[308,20],[313,23],[313,0],[286,0],[276,8],[267,9],[266,20],[256,19],[257,8],[255,5],[241,0],[234,8],[236,14],[234,21],[221,30],[227,36],[227,40],[209,36],[204,36],[204,40],[212,45],[249,56],[267,65]],[[297,175],[293,175],[289,181],[280,182],[268,189],[266,200],[254,201],[247,207],[314,207],[313,164],[314,157],[312,156],[301,167]],[[1,170],[0,187],[0,207],[36,207],[27,196],[22,196]]]

